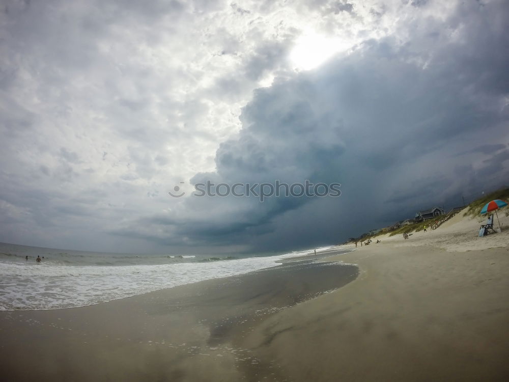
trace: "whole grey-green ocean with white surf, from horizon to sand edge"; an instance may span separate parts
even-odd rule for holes
[[[333,247],[317,252],[327,253]],[[274,267],[273,255],[118,254],[0,243],[0,310],[74,308]],[[348,252],[348,251],[347,251]],[[28,260],[25,260],[28,256]],[[36,258],[44,257],[37,263]]]

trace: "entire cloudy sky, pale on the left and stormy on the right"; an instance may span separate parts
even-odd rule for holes
[[[0,241],[287,251],[472,201],[509,183],[507,25],[504,0],[3,0]],[[276,180],[341,196],[195,192]]]

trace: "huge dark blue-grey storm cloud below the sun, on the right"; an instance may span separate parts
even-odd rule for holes
[[[407,43],[392,37],[367,41],[350,56],[256,91],[243,109],[243,129],[217,150],[217,171],[197,174],[191,182],[309,179],[340,182],[348,193],[294,204],[230,198],[228,205],[237,210],[224,214],[223,201],[191,197],[187,208],[199,206],[208,218],[184,216],[169,225],[191,243],[241,238],[257,248],[268,242],[291,247],[304,222],[302,243],[340,241],[355,234],[345,222],[371,221],[370,227],[353,224],[367,230],[449,202],[465,187],[501,184],[509,168],[507,151],[495,154],[500,143],[476,142],[507,136],[507,113],[500,106],[509,92],[508,71],[502,69],[509,63],[508,16],[504,2],[482,10],[460,5],[445,23],[408,25],[414,35]],[[461,178],[456,171],[469,158],[451,160],[455,152],[488,158],[472,170],[473,177]],[[328,220],[308,208],[322,210],[320,204],[335,212],[325,214]],[[289,214],[298,219],[290,227]],[[321,233],[328,225],[343,228],[343,235]]]

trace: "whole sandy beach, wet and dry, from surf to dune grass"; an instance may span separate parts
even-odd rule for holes
[[[508,380],[509,231],[477,237],[478,224],[458,215],[318,263],[89,307],[0,312],[4,376]],[[320,266],[331,261],[358,268]]]

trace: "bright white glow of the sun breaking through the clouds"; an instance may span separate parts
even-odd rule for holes
[[[309,70],[316,68],[338,51],[350,47],[346,41],[308,32],[299,37],[292,51],[290,62],[296,69]]]

